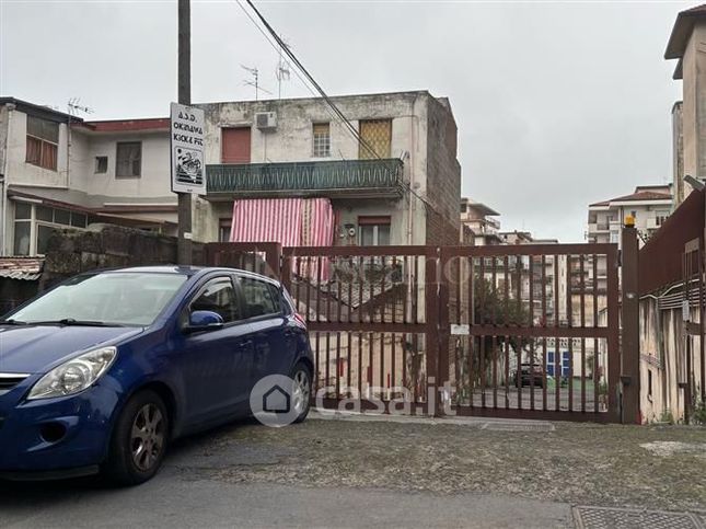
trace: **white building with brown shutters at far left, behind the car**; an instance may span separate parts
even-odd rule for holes
[[[55,228],[175,233],[167,135],[169,119],[88,123],[0,97],[2,254],[42,255]]]

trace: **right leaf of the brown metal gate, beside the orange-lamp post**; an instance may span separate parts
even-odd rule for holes
[[[442,380],[456,414],[617,421],[615,244],[440,249]]]

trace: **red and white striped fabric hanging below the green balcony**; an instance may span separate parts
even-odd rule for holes
[[[301,198],[235,200],[230,242],[301,244]]]

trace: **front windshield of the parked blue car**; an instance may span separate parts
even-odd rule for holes
[[[150,325],[186,281],[183,274],[107,273],[70,279],[10,314],[12,322]]]

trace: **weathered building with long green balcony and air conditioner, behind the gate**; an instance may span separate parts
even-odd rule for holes
[[[360,139],[319,97],[198,105],[208,194],[195,238],[233,239],[234,202],[299,197],[329,203],[335,244],[458,243],[461,168],[449,101],[426,91],[333,101]]]

